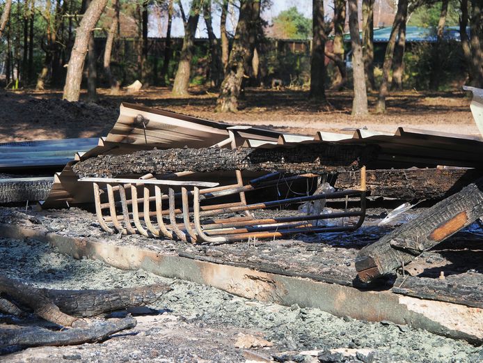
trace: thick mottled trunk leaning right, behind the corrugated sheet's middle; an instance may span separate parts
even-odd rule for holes
[[[236,112],[245,68],[251,63],[260,21],[260,1],[242,1],[225,79],[216,100],[217,112]]]

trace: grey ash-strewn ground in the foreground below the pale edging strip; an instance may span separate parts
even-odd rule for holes
[[[0,239],[2,269],[48,288],[118,288],[165,282],[172,291],[136,317],[138,325],[104,343],[42,347],[2,362],[481,362],[483,350],[393,323],[337,318],[319,309],[238,298],[209,286],[74,260],[35,240]],[[0,316],[5,320],[5,316]],[[267,347],[237,348],[240,334]],[[268,343],[263,343],[267,341]],[[351,358],[337,354],[347,350]],[[308,352],[310,351],[310,352]],[[312,355],[308,355],[308,353]],[[356,357],[357,355],[357,357]],[[317,357],[318,356],[318,357]]]

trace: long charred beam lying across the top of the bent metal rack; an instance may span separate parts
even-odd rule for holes
[[[171,148],[93,157],[74,165],[79,176],[120,176],[177,171],[284,171],[333,173],[356,170],[374,160],[377,146],[312,144],[296,148]]]

